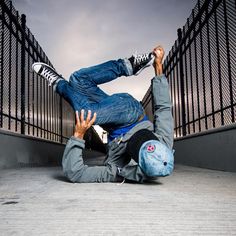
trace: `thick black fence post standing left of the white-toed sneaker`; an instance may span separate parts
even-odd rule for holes
[[[26,16],[21,15],[21,134],[25,134],[25,28]]]

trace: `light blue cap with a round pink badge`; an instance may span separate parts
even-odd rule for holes
[[[173,151],[157,140],[149,140],[139,150],[139,166],[150,177],[170,175],[174,169]]]

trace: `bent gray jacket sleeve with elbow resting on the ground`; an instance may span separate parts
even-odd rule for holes
[[[74,183],[115,182],[117,181],[117,167],[112,164],[106,166],[88,167],[84,165],[82,151],[85,141],[71,137],[67,142],[62,167],[65,176]]]

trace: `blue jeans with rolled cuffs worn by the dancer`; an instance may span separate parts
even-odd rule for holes
[[[84,109],[96,112],[95,124],[106,130],[113,130],[135,123],[144,110],[140,102],[131,95],[117,93],[109,96],[98,85],[129,75],[132,75],[132,69],[127,59],[108,61],[74,72],[69,82],[59,80],[56,92],[64,97],[75,111]]]

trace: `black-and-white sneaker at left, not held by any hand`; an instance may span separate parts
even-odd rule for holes
[[[32,69],[48,81],[48,85],[52,86],[58,79],[63,79],[52,67],[42,62],[35,62]]]

